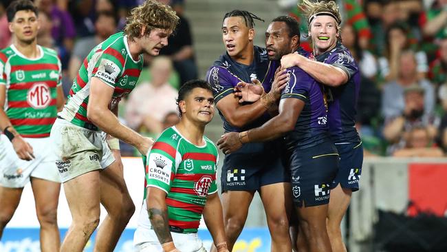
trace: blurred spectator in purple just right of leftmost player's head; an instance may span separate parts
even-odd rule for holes
[[[61,58],[62,68],[65,70],[76,36],[72,16],[67,12],[67,7],[60,8],[54,0],[36,0],[35,3],[40,12],[45,12],[51,17],[52,37]]]

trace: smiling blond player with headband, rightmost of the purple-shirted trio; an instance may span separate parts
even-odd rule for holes
[[[281,66],[301,67],[326,86],[329,131],[340,154],[338,174],[331,185],[327,232],[332,251],[346,251],[340,223],[349,206],[352,192],[360,187],[363,162],[362,142],[356,131],[360,72],[351,53],[341,43],[341,16],[336,3],[303,0],[300,7],[307,15],[309,37],[317,61],[310,61],[298,54],[289,54],[281,59]],[[305,238],[308,238],[307,235]]]

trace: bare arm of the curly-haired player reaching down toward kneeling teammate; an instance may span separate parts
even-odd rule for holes
[[[100,78],[91,77],[87,118],[102,131],[133,145],[141,154],[146,154],[153,141],[120,123],[118,117],[109,109],[112,96],[113,87]]]

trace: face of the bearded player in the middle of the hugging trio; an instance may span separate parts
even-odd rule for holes
[[[292,39],[284,22],[272,22],[268,25],[265,31],[265,48],[270,61],[279,61],[282,56],[292,52]]]

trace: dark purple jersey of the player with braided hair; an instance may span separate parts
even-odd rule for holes
[[[223,54],[208,69],[208,72],[206,72],[206,81],[210,83],[215,96],[215,102],[218,103],[221,98],[233,94],[233,88],[237,83],[240,81],[251,83],[253,78],[261,81],[265,92],[269,92],[274,74],[270,74],[271,77],[268,78],[268,72],[274,73],[275,70],[272,69],[271,63],[268,60],[267,50],[254,46],[254,59],[251,65],[237,63],[231,59],[228,53]],[[225,132],[242,132],[247,129],[259,127],[270,119],[270,116],[265,113],[260,118],[246,125],[246,127],[238,129],[230,125],[221,112],[219,114],[223,120],[223,129]]]

